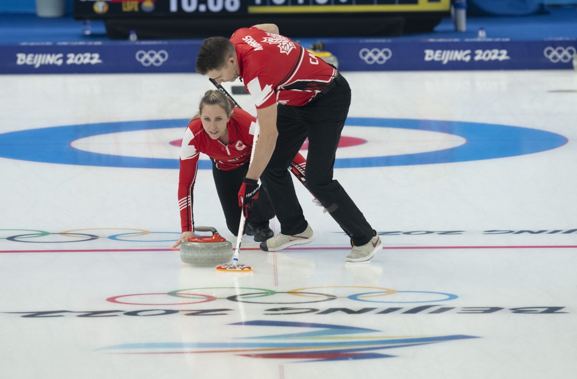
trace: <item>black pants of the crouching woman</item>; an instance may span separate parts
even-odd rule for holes
[[[242,212],[242,207],[238,206],[238,191],[241,189],[242,180],[248,170],[249,162],[228,171],[219,170],[212,162],[212,177],[215,180],[224,218],[226,218],[226,226],[235,236],[238,233]],[[275,211],[272,209],[271,200],[268,199],[267,192],[261,188],[258,191],[258,199],[254,200],[252,208],[249,209],[249,217],[246,221],[251,226],[268,226],[268,220],[273,217],[275,217]]]

